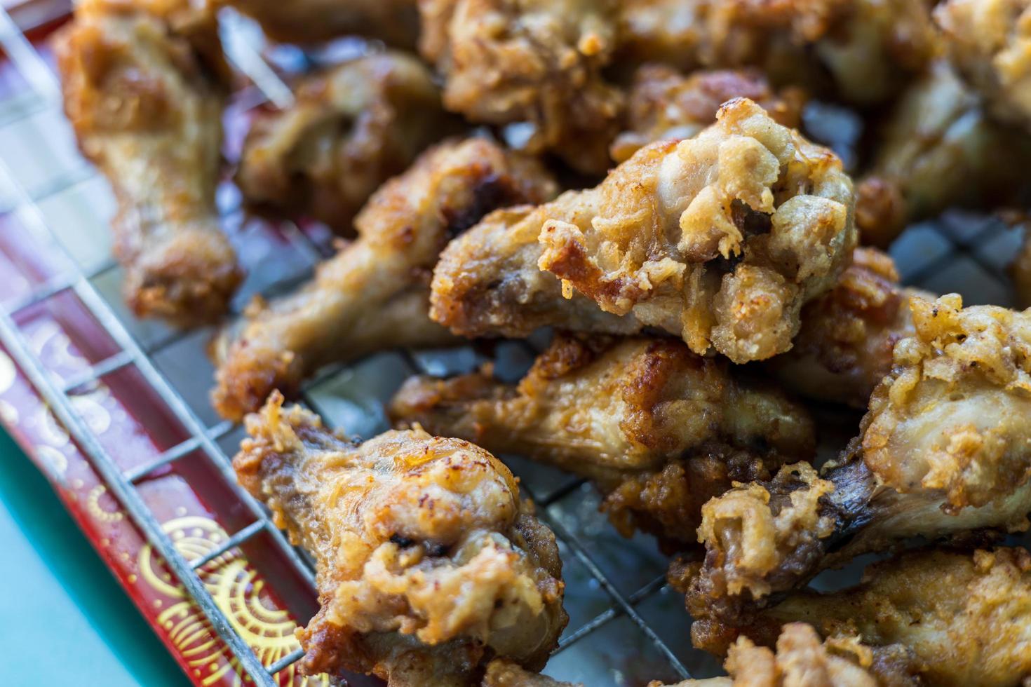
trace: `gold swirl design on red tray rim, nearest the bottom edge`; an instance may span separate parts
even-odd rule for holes
[[[213,551],[226,539],[226,533],[213,520],[185,516],[169,520],[163,529],[175,548],[189,560]],[[154,589],[177,600],[161,612],[158,622],[168,632],[175,648],[190,664],[194,676],[204,685],[223,680],[233,673],[233,684],[243,684],[243,671],[218,640],[207,618],[187,598],[154,553],[151,545],[139,552],[139,574]],[[270,609],[262,603],[265,581],[236,551],[229,551],[198,571],[215,604],[226,614],[233,629],[251,646],[258,658],[269,665],[300,647],[294,630],[297,624],[290,614]],[[290,685],[329,685],[327,676],[305,678],[291,665],[278,674],[280,683]],[[250,680],[247,681],[250,682]]]

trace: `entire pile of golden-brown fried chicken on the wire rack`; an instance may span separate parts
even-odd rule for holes
[[[339,240],[229,323],[233,10],[368,42],[254,118],[248,210]],[[236,474],[318,561],[302,673],[565,684],[538,674],[555,535],[495,457],[521,454],[670,556],[684,642],[730,676],[681,685],[1031,684],[1031,553],[1002,541],[1031,526],[1031,310],[883,252],[950,208],[1023,221],[1031,0],[79,0],[56,46],[132,310],[226,324]],[[1031,305],[1031,241],[1006,259]],[[518,383],[409,379],[364,442],[285,405],[327,365],[541,330]],[[865,412],[829,460],[818,406]]]

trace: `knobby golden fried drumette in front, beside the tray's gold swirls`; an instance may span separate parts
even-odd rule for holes
[[[495,656],[542,667],[568,620],[562,561],[508,469],[422,430],[356,444],[281,405],[247,417],[233,468],[315,558],[301,672],[464,687]]]

